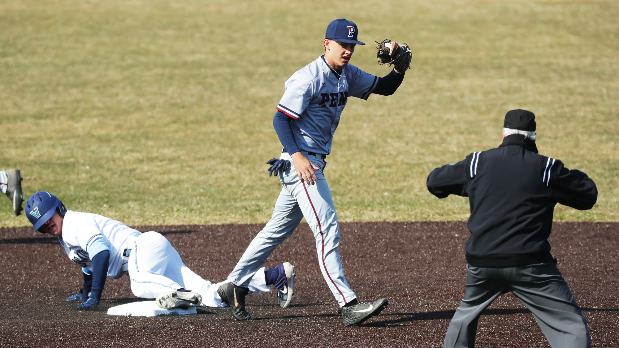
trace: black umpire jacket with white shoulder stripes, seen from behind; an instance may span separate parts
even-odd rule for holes
[[[555,204],[586,210],[597,200],[589,176],[538,154],[535,142],[520,134],[505,137],[496,149],[436,168],[426,185],[438,198],[469,197],[466,259],[478,267],[552,261],[547,239]]]

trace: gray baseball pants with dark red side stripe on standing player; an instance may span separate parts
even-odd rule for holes
[[[275,247],[292,235],[305,216],[316,238],[318,264],[322,276],[342,307],[357,298],[357,295],[350,290],[340,261],[340,227],[337,224],[331,190],[322,173],[326,162],[321,157],[309,155],[307,152],[303,152],[303,155],[320,168],[314,171],[318,178],[316,185],[306,185],[300,180],[292,158],[289,154],[282,153],[280,159],[289,160],[290,168],[285,172],[279,172],[282,191],[275,202],[271,220],[249,243],[228,279],[237,286],[247,287],[251,277],[264,265]]]

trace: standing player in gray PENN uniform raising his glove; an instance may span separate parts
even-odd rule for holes
[[[348,286],[338,250],[337,214],[323,170],[348,97],[366,100],[370,94],[393,94],[409,68],[411,54],[408,46],[384,40],[378,47],[379,63],[393,64],[394,69],[383,78],[373,76],[349,63],[355,46],[365,45],[357,35],[357,25],[350,20],[332,21],[326,30],[324,54],[285,83],[273,120],[284,149],[279,160],[267,162],[272,165],[270,175],[279,175],[282,191],[271,220],[249,244],[228,276],[230,282],[219,288],[223,302],[230,305],[238,320],[254,319],[244,300],[251,279],[303,217],[316,238],[319,267],[340,305],[344,324],[359,325],[387,306],[386,298],[358,302],[357,294]],[[233,297],[241,300],[234,303]]]

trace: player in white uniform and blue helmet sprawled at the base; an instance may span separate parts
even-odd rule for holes
[[[142,298],[155,298],[159,307],[223,307],[217,289],[183,264],[170,242],[157,232],[141,233],[108,217],[68,211],[53,194],[37,192],[26,202],[34,229],[58,237],[74,263],[82,266],[84,287],[67,301],[82,302],[76,310],[98,307],[106,279],[131,278],[131,290]],[[260,269],[249,281],[249,292],[262,294],[275,285],[293,291],[293,266],[280,264]]]

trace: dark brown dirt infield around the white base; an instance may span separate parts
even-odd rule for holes
[[[263,225],[142,226],[165,233],[185,264],[225,279]],[[248,298],[259,320],[234,321],[225,308],[196,315],[126,318],[109,307],[136,300],[128,277],[106,282],[100,310],[64,302],[81,286],[80,268],[58,240],[32,228],[0,228],[2,347],[442,347],[464,294],[465,222],[342,223],[340,253],[360,300],[389,298],[383,315],[346,328],[318,269],[313,236],[301,225],[266,266],[297,266],[297,297],[282,310],[273,294]],[[619,223],[555,223],[558,266],[589,320],[594,347],[618,347]],[[477,347],[548,347],[531,313],[502,295],[479,323]]]

